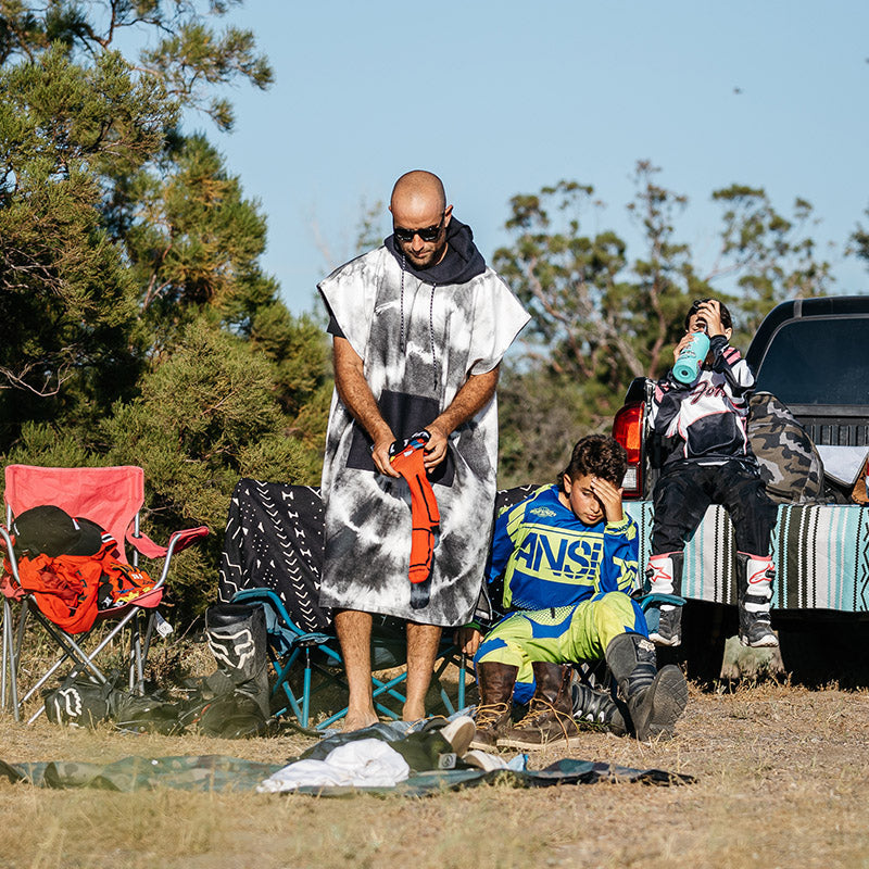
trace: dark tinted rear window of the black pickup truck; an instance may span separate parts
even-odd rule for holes
[[[791,404],[869,404],[869,317],[806,317],[776,332],[757,390]]]

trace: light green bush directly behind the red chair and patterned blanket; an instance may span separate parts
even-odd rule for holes
[[[268,358],[244,339],[190,323],[181,340],[100,427],[111,464],[144,469],[149,527],[159,537],[189,522],[214,532],[176,571],[175,600],[186,615],[216,597],[216,565],[229,494],[241,477],[310,482],[318,468],[289,437]]]

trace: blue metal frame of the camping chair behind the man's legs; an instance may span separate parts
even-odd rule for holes
[[[273,715],[281,718],[292,714],[301,727],[307,728],[312,698],[330,687],[347,689],[338,638],[332,631],[305,631],[300,628],[290,617],[280,597],[269,589],[242,589],[234,595],[232,603],[261,604],[265,609],[269,658],[275,670],[272,688]],[[401,717],[400,706],[405,696],[400,687],[406,681],[407,673],[403,671],[385,680],[376,672],[404,665],[404,642],[402,631],[388,626],[380,627],[379,630],[375,627],[371,639],[371,667],[375,670],[371,676],[371,693],[378,713],[393,719]],[[440,685],[441,701],[449,715],[465,707],[466,678],[468,672],[473,678],[473,669],[466,656],[452,642],[444,640],[434,668],[434,678],[439,684],[451,664],[458,668],[455,703],[443,685]],[[293,673],[299,667],[302,668],[301,691],[292,685]],[[315,676],[318,677],[316,684]],[[387,705],[389,701],[393,702],[393,706],[398,704],[399,709]],[[347,707],[331,711],[316,723],[315,729],[328,729],[343,718],[347,711]]]

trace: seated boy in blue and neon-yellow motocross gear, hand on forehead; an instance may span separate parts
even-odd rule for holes
[[[604,719],[615,732],[632,730],[641,740],[669,734],[684,710],[684,677],[672,665],[657,672],[645,619],[629,596],[638,542],[637,524],[621,509],[626,467],[625,450],[612,438],[583,438],[557,486],[538,489],[498,518],[488,577],[491,582],[503,574],[504,607],[515,612],[475,656],[476,747],[569,743],[579,732],[574,662],[606,659],[631,722],[603,695],[594,711],[609,704]],[[528,714],[511,727],[517,681],[532,678]]]

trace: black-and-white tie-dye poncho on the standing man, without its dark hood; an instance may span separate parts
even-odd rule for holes
[[[432,285],[386,247],[341,266],[319,290],[333,325],[363,360],[365,378],[396,438],[430,424],[468,375],[492,370],[529,319],[484,264],[465,282]],[[421,624],[465,624],[490,542],[496,401],[452,432],[448,458],[431,475],[441,524],[425,605],[417,599],[411,606],[407,483],[379,474],[370,446],[336,392],[323,467],[320,603]]]

